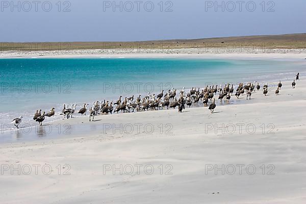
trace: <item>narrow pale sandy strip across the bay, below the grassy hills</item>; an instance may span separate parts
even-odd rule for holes
[[[0,59],[16,58],[199,58],[199,59],[306,59],[306,49],[269,49],[264,52],[216,52],[214,49],[181,48],[171,50],[56,50],[56,51],[2,51]]]

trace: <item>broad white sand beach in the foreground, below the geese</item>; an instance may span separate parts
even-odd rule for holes
[[[301,79],[295,89],[282,82],[279,95],[243,95],[242,105],[217,101],[213,114],[81,117],[69,124],[91,131],[1,144],[0,203],[305,203]]]

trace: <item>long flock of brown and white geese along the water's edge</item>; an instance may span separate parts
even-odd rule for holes
[[[299,74],[298,74],[299,75]],[[298,75],[296,79],[298,80]],[[295,88],[296,82],[295,80],[292,82],[292,88]],[[281,81],[277,85],[277,89],[275,90],[275,94],[279,94],[279,90],[282,88]],[[241,95],[246,94],[246,99],[251,99],[251,95],[255,91],[260,90],[259,83],[247,83],[246,85],[243,85],[243,83],[240,83],[238,88],[236,89],[235,96],[237,99]],[[179,112],[182,112],[183,109],[185,109],[185,105],[187,107],[191,107],[193,104],[197,105],[199,101],[201,100],[203,105],[206,107],[208,106],[209,102],[209,110],[211,113],[214,112],[214,109],[216,108],[216,97],[218,92],[218,100],[222,102],[223,99],[227,101],[227,103],[230,101],[232,95],[234,94],[234,85],[225,84],[224,87],[220,86],[206,86],[205,89],[202,89],[200,91],[200,88],[192,88],[189,92],[186,93],[185,87],[181,91],[179,91],[179,94],[177,94],[177,90],[172,88],[171,90],[168,90],[168,92],[164,93],[164,90],[159,93],[158,95],[152,94],[150,95],[150,92],[143,98],[141,98],[141,94],[135,99],[134,95],[131,97],[125,97],[122,101],[122,96],[119,97],[119,99],[113,103],[112,101],[96,101],[93,102],[92,107],[89,109],[89,121],[94,121],[94,117],[96,115],[100,114],[112,114],[112,113],[130,113],[134,112],[135,110],[138,111],[148,111],[148,110],[163,110],[165,108],[173,108],[175,109],[178,107]],[[268,83],[266,83],[263,86],[263,94],[266,96],[268,93]],[[179,99],[177,99],[177,97]],[[134,100],[135,99],[135,100]],[[114,107],[116,105],[116,107]],[[60,113],[60,115],[65,116],[67,119],[72,118],[74,114],[81,114],[86,115],[88,111],[89,104],[84,104],[84,106],[76,112],[75,109],[77,107],[77,104],[72,104],[70,107],[66,104],[63,105],[63,110]],[[42,122],[45,120],[45,117],[52,117],[55,115],[55,108],[52,108],[50,112],[45,113],[43,112],[41,114],[42,110],[37,110],[34,114],[33,120],[37,121],[39,125],[42,125]],[[22,121],[22,116],[19,118],[15,118],[12,123],[19,128],[18,125]]]

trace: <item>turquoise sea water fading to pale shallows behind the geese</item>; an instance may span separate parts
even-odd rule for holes
[[[174,87],[273,82],[302,73],[301,61],[208,59],[0,59],[0,123],[62,104],[160,93]],[[60,119],[56,116],[52,119]],[[48,120],[51,120],[48,118]]]

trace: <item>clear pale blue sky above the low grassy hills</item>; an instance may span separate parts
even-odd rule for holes
[[[306,1],[0,1],[0,42],[306,33]]]

